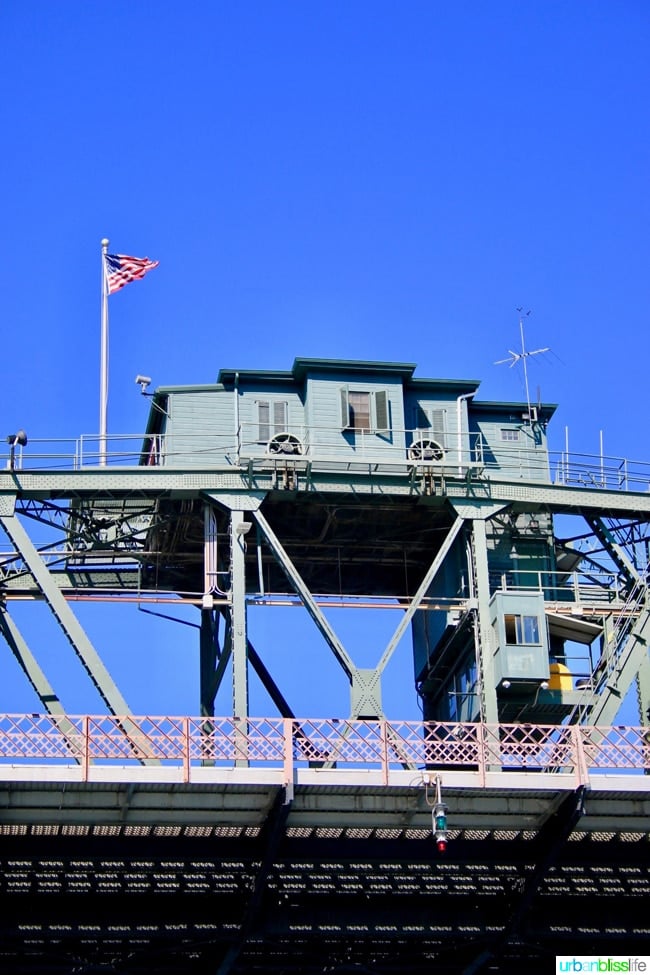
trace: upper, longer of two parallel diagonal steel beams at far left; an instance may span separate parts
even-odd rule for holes
[[[126,715],[130,709],[117,685],[109,674],[99,654],[90,642],[79,620],[68,606],[65,597],[52,580],[49,570],[38,554],[34,543],[16,515],[0,516],[0,524],[10,541],[20,552],[25,564],[34,577],[36,585],[45,597],[59,626],[65,633],[72,649],[79,657],[86,673],[97,688],[102,700],[111,714]]]

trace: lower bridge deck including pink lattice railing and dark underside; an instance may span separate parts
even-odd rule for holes
[[[643,954],[647,739],[0,716],[3,970],[543,972],[555,954]]]

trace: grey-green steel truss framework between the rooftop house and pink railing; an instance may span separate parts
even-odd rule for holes
[[[579,539],[582,564],[566,589],[554,582],[555,608],[599,621],[604,634],[569,721],[611,723],[635,680],[642,720],[647,720],[647,495],[538,482],[515,486],[480,477],[447,477],[431,492],[409,472],[332,473],[313,467],[308,483],[297,478],[284,487],[275,471],[249,465],[227,475],[193,472],[190,480],[159,468],[14,471],[0,474],[0,499],[0,524],[10,542],[0,562],[0,628],[50,713],[62,713],[61,692],[11,618],[12,599],[48,604],[109,713],[128,714],[129,708],[79,625],[71,608],[74,599],[196,605],[201,614],[201,713],[213,714],[215,695],[230,669],[233,713],[246,717],[248,669],[253,666],[280,714],[291,717],[299,708],[289,706],[264,663],[264,648],[253,648],[247,634],[248,603],[272,603],[275,597],[297,599],[306,608],[350,686],[353,718],[383,716],[382,675],[417,613],[459,613],[472,624],[466,647],[472,646],[476,656],[476,715],[494,723],[501,713],[490,670],[488,603],[494,580],[485,560],[487,539],[500,531],[527,532],[534,541],[540,525],[569,515],[584,518],[586,525]],[[37,526],[37,543],[26,521]],[[564,540],[566,551],[575,539],[574,534]],[[431,594],[450,553],[463,545],[470,553],[468,587],[447,597],[445,605]],[[355,565],[351,575],[349,567]],[[341,572],[347,572],[348,581],[335,588]],[[317,588],[319,582],[331,588]],[[333,597],[347,605],[361,602],[363,590],[370,590],[366,606],[380,597],[404,610],[369,669],[356,666],[326,610]],[[220,621],[225,623],[223,637]],[[459,637],[463,632],[461,627]],[[454,679],[460,657],[458,648],[449,646],[443,670],[430,680],[440,674]]]

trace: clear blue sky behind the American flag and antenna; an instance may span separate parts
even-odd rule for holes
[[[107,236],[160,261],[111,298],[111,432],[138,372],[296,355],[519,399],[522,305],[552,445],[650,459],[647,0],[4,0],[0,35],[7,433],[97,431]],[[98,647],[134,710],[195,710],[193,635],[151,622],[146,682],[126,624]]]

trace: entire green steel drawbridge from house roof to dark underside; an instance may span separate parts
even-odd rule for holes
[[[552,406],[413,369],[222,370],[157,390],[142,436],[7,452],[0,630],[34,700],[0,705],[7,971],[472,975],[644,953],[650,465],[554,454]],[[135,714],[81,603],[192,614],[194,714]],[[86,714],[19,625],[36,604]],[[253,644],[252,608],[273,644],[284,607],[305,616],[305,681],[334,660],[336,715],[305,715]],[[340,609],[364,621],[363,665]],[[418,720],[384,705],[403,641]]]

